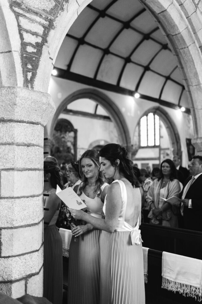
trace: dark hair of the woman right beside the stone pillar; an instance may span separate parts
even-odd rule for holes
[[[45,174],[50,173],[49,179],[50,184],[53,188],[57,188],[57,185],[63,189],[63,177],[60,168],[57,166],[55,161],[44,161],[44,172]]]

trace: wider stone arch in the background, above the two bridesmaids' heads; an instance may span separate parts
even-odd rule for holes
[[[50,136],[52,135],[58,116],[65,108],[65,106],[80,98],[90,98],[98,102],[101,106],[103,106],[103,108],[109,113],[114,125],[116,126],[118,136],[120,138],[120,143],[127,149],[131,147],[131,139],[130,139],[129,131],[121,111],[107,95],[94,89],[78,90],[72,93],[71,95],[69,95],[68,97],[66,97],[61,102],[61,104],[58,106],[55,112],[55,115],[51,123]]]

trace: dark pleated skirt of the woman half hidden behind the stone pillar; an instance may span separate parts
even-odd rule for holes
[[[44,230],[44,292],[53,304],[62,304],[62,239],[55,225]]]

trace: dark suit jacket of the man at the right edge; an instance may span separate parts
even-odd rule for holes
[[[184,187],[187,185],[191,178],[192,176],[189,176],[186,179]],[[181,197],[184,187],[180,193]],[[184,206],[184,228],[189,230],[202,231],[202,174],[190,185],[185,195],[185,199],[191,199],[192,208]]]

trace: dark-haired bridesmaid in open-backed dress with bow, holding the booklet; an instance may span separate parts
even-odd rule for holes
[[[104,201],[105,218],[97,219],[82,210],[70,209],[76,219],[102,230],[100,302],[96,303],[144,304],[140,184],[125,148],[111,143],[99,153],[100,170],[106,178],[114,179]]]

